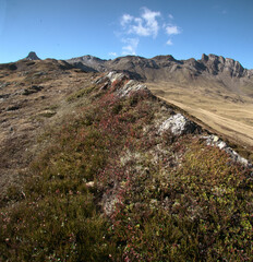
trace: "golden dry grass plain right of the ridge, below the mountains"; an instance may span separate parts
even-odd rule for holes
[[[253,150],[253,98],[221,86],[202,87],[174,83],[147,83],[160,98],[184,109],[233,142]]]

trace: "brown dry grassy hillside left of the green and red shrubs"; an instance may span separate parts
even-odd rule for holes
[[[16,70],[0,64],[0,199],[9,186],[21,183],[28,163],[41,150],[36,142],[39,133],[59,126],[61,116],[74,110],[65,97],[88,86],[96,75],[62,63],[19,61]]]

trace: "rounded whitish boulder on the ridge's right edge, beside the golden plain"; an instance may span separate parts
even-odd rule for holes
[[[185,133],[193,133],[196,130],[196,124],[190,121],[181,114],[177,114],[165,120],[160,128],[159,133],[170,130],[172,134],[180,135]]]

